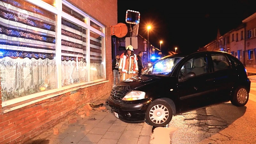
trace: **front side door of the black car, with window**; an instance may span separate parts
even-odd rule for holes
[[[213,77],[210,74],[206,54],[190,58],[178,71],[178,95],[180,112],[191,111],[209,105],[209,97],[214,94]],[[193,72],[196,76],[182,80],[181,76]]]

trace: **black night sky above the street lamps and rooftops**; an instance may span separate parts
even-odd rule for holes
[[[139,34],[162,52],[196,52],[256,12],[256,0],[146,1],[117,0],[118,23],[125,23],[126,10],[140,12]],[[128,29],[129,29],[129,24]],[[134,25],[132,25],[134,26]]]

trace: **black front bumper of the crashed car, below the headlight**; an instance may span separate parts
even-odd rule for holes
[[[116,101],[110,96],[107,103],[118,114],[119,119],[127,122],[141,122],[145,120],[146,110],[151,99]]]

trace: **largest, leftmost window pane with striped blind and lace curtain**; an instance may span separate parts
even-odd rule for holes
[[[2,101],[57,88],[55,14],[23,0],[0,5]]]

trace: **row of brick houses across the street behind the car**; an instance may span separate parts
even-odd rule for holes
[[[256,68],[256,13],[224,35],[220,35],[198,51],[224,51],[238,58],[246,67]]]

